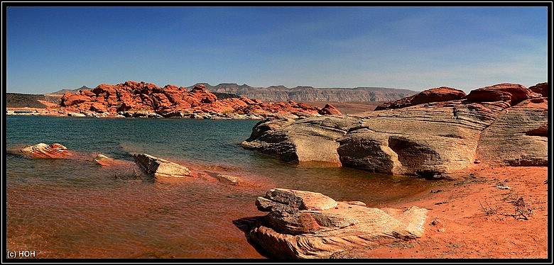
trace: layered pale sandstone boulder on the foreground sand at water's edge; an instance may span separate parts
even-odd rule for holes
[[[329,258],[335,252],[421,237],[427,209],[368,208],[321,193],[275,188],[256,199],[269,212],[249,239],[276,258]]]

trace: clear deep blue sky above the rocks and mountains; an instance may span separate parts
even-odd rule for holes
[[[6,7],[6,91],[548,81],[543,7]]]

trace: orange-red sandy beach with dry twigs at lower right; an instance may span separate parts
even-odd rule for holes
[[[550,260],[547,167],[477,164],[413,198],[377,208],[427,208],[422,237],[342,252],[362,259]],[[437,188],[438,187],[438,188]],[[542,259],[545,259],[544,261]]]

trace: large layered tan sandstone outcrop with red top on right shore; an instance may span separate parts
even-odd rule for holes
[[[468,95],[441,87],[362,117],[263,120],[241,145],[289,162],[423,177],[474,162],[547,166],[548,84],[497,84]]]

